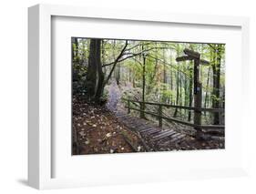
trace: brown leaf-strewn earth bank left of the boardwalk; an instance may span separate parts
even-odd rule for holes
[[[138,134],[118,122],[107,107],[73,98],[73,154],[107,154],[145,151]],[[74,142],[74,140],[73,140]]]

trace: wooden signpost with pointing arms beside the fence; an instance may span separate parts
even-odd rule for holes
[[[179,56],[176,58],[176,61],[187,61],[193,60],[194,61],[194,107],[197,109],[195,110],[194,115],[194,124],[200,126],[201,125],[201,83],[200,83],[200,65],[209,65],[210,63],[206,60],[200,59],[200,53],[189,50],[188,48],[184,49],[184,53],[186,56]],[[196,127],[197,130],[197,138],[201,137],[201,128]]]

